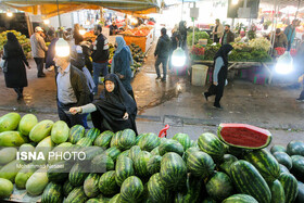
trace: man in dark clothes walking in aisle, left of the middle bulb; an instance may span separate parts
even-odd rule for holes
[[[168,55],[170,51],[170,38],[167,36],[166,28],[161,29],[161,37],[157,41],[156,49],[154,52],[154,56],[156,58],[155,61],[155,69],[157,77],[156,79],[161,79],[161,73],[160,73],[160,64],[163,64],[163,78],[162,81],[166,81],[166,74],[167,74],[167,61]]]

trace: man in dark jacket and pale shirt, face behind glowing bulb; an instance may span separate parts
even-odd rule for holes
[[[80,106],[91,102],[86,77],[81,71],[71,64],[69,56],[61,58],[55,55],[54,61],[55,65],[59,66],[59,73],[55,77],[59,117],[68,127],[77,124],[86,127],[83,115],[68,113],[68,110],[73,106]]]

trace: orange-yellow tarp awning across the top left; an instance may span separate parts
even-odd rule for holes
[[[101,7],[128,14],[149,14],[160,10],[160,0],[2,0],[2,3],[12,8],[46,17],[58,15],[56,2],[60,14],[83,9],[99,10]]]

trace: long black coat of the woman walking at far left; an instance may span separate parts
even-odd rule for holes
[[[24,63],[28,66],[22,47],[17,43],[4,45],[2,56],[7,60],[8,72],[4,73],[5,85],[8,88],[27,87],[27,77]]]

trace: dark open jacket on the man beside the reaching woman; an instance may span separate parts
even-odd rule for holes
[[[77,99],[76,106],[86,105],[90,103],[91,102],[90,89],[88,87],[85,74],[77,67],[73,66],[72,64],[69,68],[69,74],[71,74],[69,75],[71,86]],[[58,74],[55,76],[55,83],[56,83],[56,77]],[[56,96],[56,100],[58,100],[58,96]]]

